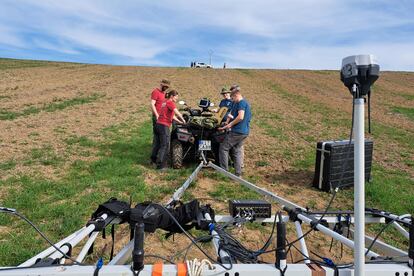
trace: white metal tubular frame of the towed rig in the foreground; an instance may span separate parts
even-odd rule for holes
[[[276,194],[267,191],[266,189],[260,188],[240,177],[235,176],[234,174],[222,169],[221,167],[216,166],[215,164],[209,162],[209,163],[205,163],[205,162],[201,162],[197,168],[193,171],[193,173],[189,176],[189,178],[184,182],[184,184],[178,188],[174,195],[172,196],[172,198],[168,201],[167,206],[170,205],[174,200],[179,200],[181,198],[181,196],[184,194],[184,192],[186,191],[186,189],[190,186],[190,184],[194,181],[194,179],[196,179],[198,173],[200,172],[200,170],[203,167],[209,167],[209,168],[213,168],[216,171],[223,173],[224,175],[228,176],[229,178],[239,182],[240,184],[242,184],[243,186],[256,191],[259,194],[262,194],[264,196],[267,196],[269,198],[271,198],[272,200],[274,200],[275,202],[287,206],[289,208],[298,208],[300,210],[305,210],[305,208],[292,203],[282,197],[277,196]],[[105,215],[106,216],[106,215]],[[317,220],[320,217],[320,215],[309,215],[309,214],[298,214],[298,218],[300,220],[302,220],[305,223],[310,224],[313,220]],[[396,216],[398,217],[398,216]],[[104,219],[106,219],[107,217],[105,217]],[[216,221],[217,222],[228,222],[231,221],[232,217],[230,216],[216,216]],[[329,224],[334,224],[339,222],[338,221],[338,217],[337,216],[325,216],[324,219],[326,219],[326,221]],[[404,219],[404,218],[402,218]],[[288,216],[283,216],[283,221],[288,221],[289,217]],[[345,220],[345,218],[341,218],[341,221]],[[257,219],[257,222],[273,222],[274,221],[274,216],[272,216],[271,218],[268,219]],[[351,218],[351,222],[353,222],[353,218]],[[408,222],[408,220],[406,220]],[[371,216],[366,216],[366,221],[365,223],[384,223],[385,219],[383,217],[377,217],[375,215],[371,215]],[[115,221],[113,221],[112,223],[116,223]],[[399,227],[401,227],[398,223],[396,223]],[[301,237],[303,234],[302,232],[302,227],[300,222],[296,221],[295,222],[295,226],[296,226],[296,232],[298,237]],[[398,227],[395,226],[395,227]],[[77,232],[73,233],[72,235],[68,236],[67,238],[63,239],[62,241],[56,243],[56,245],[61,246],[62,244],[69,242],[72,246],[75,246],[76,244],[78,244],[84,237],[86,237],[87,235],[89,235],[90,233],[93,232],[95,226],[94,225],[89,225],[88,227],[83,227],[82,229],[78,230]],[[316,226],[316,228],[321,231],[324,234],[327,234],[328,236],[333,237],[334,239],[342,242],[343,244],[345,244],[348,247],[353,248],[354,246],[354,242],[352,240],[349,240],[347,238],[345,238],[344,236],[332,231],[331,229],[318,224]],[[402,228],[402,227],[401,227]],[[398,229],[398,228],[397,228]],[[404,231],[405,229],[402,228]],[[402,232],[402,231],[401,231]],[[353,230],[350,229],[350,233],[353,233]],[[403,235],[405,235],[402,232]],[[78,260],[83,260],[83,258],[86,256],[86,252],[87,250],[90,248],[90,246],[92,245],[93,241],[95,240],[96,236],[98,235],[98,233],[94,233],[91,235],[91,237],[88,239],[88,241],[86,242],[86,244],[84,245],[82,251],[80,252],[79,256],[78,256]],[[367,241],[372,241],[373,238],[369,237],[369,236],[365,236],[365,239]],[[301,251],[304,255],[308,256],[309,253],[307,252],[307,247],[306,247],[306,243],[304,239],[301,239],[300,241],[300,246],[301,246]],[[123,265],[125,264],[129,258],[131,258],[131,253],[132,253],[132,247],[133,247],[133,241],[130,241],[126,246],[124,246],[124,248],[121,249],[121,251],[112,259],[111,262],[108,263],[108,265],[102,267],[102,269],[100,270],[99,274],[100,275],[132,275],[132,271],[130,270],[130,267],[127,265]],[[375,248],[381,249],[381,251],[384,251],[387,254],[390,254],[392,256],[402,256],[402,257],[406,257],[407,253],[392,247],[388,244],[385,244],[381,241],[377,241],[376,244],[373,246]],[[67,253],[68,251],[68,247],[67,246],[63,246],[61,248],[61,250],[65,253]],[[216,249],[217,250],[217,249]],[[53,253],[54,252],[54,253]],[[52,254],[53,253],[53,254]],[[35,257],[27,260],[26,262],[22,263],[21,265],[19,265],[19,267],[22,266],[29,266],[34,264],[34,262],[38,259],[38,258],[44,258],[48,255],[52,254],[50,257],[51,258],[58,258],[58,257],[62,257],[62,254],[60,252],[56,252],[56,250],[53,247],[49,247],[48,249],[42,251],[41,253],[39,253],[38,255],[36,255]],[[220,254],[219,254],[220,255]],[[369,257],[378,257],[379,255],[375,252],[370,251],[368,253]],[[305,261],[305,263],[308,263],[309,261]],[[42,269],[42,270],[40,270]],[[42,273],[48,274],[48,270],[54,270],[56,268],[53,267],[43,267],[43,268],[27,268],[27,270],[25,269],[25,273],[26,274],[30,274],[30,273],[34,273],[35,275],[38,275],[39,272],[41,271]],[[379,270],[380,269],[380,270]],[[94,266],[69,266],[69,267],[65,267],[64,271],[67,275],[90,275],[91,273],[93,273],[93,271],[95,270]],[[144,270],[141,272],[142,275],[151,275],[151,271],[152,271],[152,266],[151,265],[146,265]],[[390,275],[389,273],[392,272],[394,273],[395,271],[399,271],[401,272],[410,272],[410,268],[408,268],[408,266],[405,265],[398,265],[398,264],[375,264],[374,265],[368,265],[365,267],[364,271],[366,272],[366,275]],[[381,271],[384,274],[378,274],[378,272]],[[234,264],[233,268],[230,271],[225,271],[223,268],[216,266],[216,270],[215,272],[205,272],[203,273],[203,275],[216,275],[216,274],[220,274],[220,273],[224,273],[224,272],[230,272],[230,273],[236,273],[236,272],[243,272],[243,274],[245,274],[245,272],[250,272],[250,273],[260,273],[262,274],[261,276],[265,276],[265,275],[280,275],[279,271],[276,270],[274,268],[273,265],[261,265],[261,264]],[[388,272],[388,274],[387,274]],[[4,274],[6,273],[6,274]],[[163,275],[176,275],[177,270],[176,267],[173,265],[165,265],[164,266],[164,272]],[[276,274],[275,274],[276,273]],[[339,272],[340,276],[348,276],[348,275],[353,275],[354,273],[354,269],[343,269]],[[19,270],[5,270],[2,271],[0,269],[0,274],[1,275],[20,275],[21,271]],[[53,273],[52,273],[53,274]],[[61,274],[61,273],[59,273]],[[285,273],[285,275],[311,275],[311,271],[310,269],[305,265],[305,264],[290,264],[289,265],[289,270]],[[141,274],[140,274],[141,275]],[[333,275],[333,270],[330,269],[326,269],[326,275]]]

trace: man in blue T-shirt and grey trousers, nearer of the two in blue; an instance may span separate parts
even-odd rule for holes
[[[220,167],[228,170],[229,152],[233,150],[235,174],[241,176],[243,164],[242,147],[244,140],[249,136],[252,112],[250,104],[241,95],[240,86],[233,85],[230,96],[233,100],[232,109],[225,126],[219,128],[219,130],[229,130],[225,140],[220,144]]]

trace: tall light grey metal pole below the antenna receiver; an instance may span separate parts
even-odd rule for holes
[[[358,93],[357,93],[358,95]],[[365,275],[365,137],[364,99],[354,99],[355,275]]]

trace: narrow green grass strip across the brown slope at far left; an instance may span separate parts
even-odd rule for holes
[[[37,114],[40,113],[42,111],[45,112],[54,112],[54,111],[58,111],[58,110],[63,110],[65,108],[71,107],[71,106],[75,106],[75,105],[81,105],[81,104],[87,104],[87,103],[91,103],[94,102],[102,97],[105,97],[104,94],[92,94],[91,96],[85,96],[85,97],[75,97],[72,99],[67,99],[67,100],[63,100],[63,101],[57,101],[57,102],[52,102],[52,103],[48,103],[48,104],[44,104],[41,107],[28,107],[22,111],[10,111],[7,109],[0,109],[0,120],[14,120],[17,119],[19,117],[26,117],[26,116],[30,116],[32,114]]]

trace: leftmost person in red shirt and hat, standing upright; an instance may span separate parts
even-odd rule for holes
[[[155,148],[155,124],[157,123],[161,105],[165,101],[165,91],[170,87],[170,81],[163,79],[160,82],[160,87],[155,88],[151,93],[151,111],[152,111],[152,153],[151,162],[155,164],[157,159],[157,152]]]

